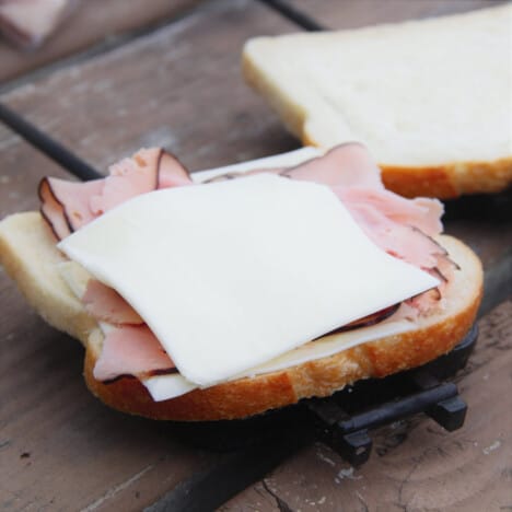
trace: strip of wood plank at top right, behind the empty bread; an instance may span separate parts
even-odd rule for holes
[[[289,0],[289,3],[326,28],[357,28],[376,23],[441,16],[470,11],[502,0]]]

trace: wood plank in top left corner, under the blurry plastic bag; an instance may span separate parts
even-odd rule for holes
[[[22,51],[1,40],[0,83],[102,42],[112,42],[123,34],[162,23],[198,2],[199,0],[83,1],[39,49]]]

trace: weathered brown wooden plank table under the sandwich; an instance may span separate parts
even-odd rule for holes
[[[251,0],[133,1],[130,10],[112,1],[105,2],[108,20],[98,18],[100,3],[83,5],[28,60],[0,46],[0,61],[10,62],[1,68],[1,102],[102,171],[149,144],[166,147],[191,170],[300,146],[240,74],[244,40],[301,31],[293,20]],[[333,28],[487,4],[290,2],[306,20]],[[117,34],[115,44],[107,33]],[[37,208],[36,186],[46,174],[68,175],[0,127],[0,217]],[[446,231],[477,251],[487,276],[479,345],[456,379],[469,404],[464,428],[446,433],[415,417],[380,429],[360,469],[309,444],[221,510],[512,509],[512,219],[502,208],[510,200],[509,194],[501,203],[449,206]],[[2,271],[0,311],[0,509],[165,510],[177,491],[225,463],[226,454],[181,443],[165,423],[94,399],[81,377],[79,344],[32,313]]]

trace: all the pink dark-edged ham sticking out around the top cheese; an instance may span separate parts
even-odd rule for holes
[[[261,172],[329,186],[382,249],[442,280],[450,278],[454,266],[431,238],[442,230],[442,205],[435,199],[411,200],[386,190],[379,167],[362,146],[342,144],[294,167],[232,173],[216,181]],[[110,166],[109,176],[104,179],[66,184],[45,178],[39,187],[42,212],[60,238],[131,197],[185,185],[191,185],[191,181],[176,158],[160,149],[147,149]],[[407,301],[409,311],[418,314],[428,310],[439,301],[442,289],[443,284]],[[95,379],[147,376],[153,371],[166,372],[174,368],[155,336],[116,291],[91,280],[83,301],[93,316],[117,326],[106,334],[94,369]]]

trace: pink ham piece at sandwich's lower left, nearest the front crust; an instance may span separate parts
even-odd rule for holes
[[[94,379],[109,381],[119,375],[146,375],[170,370],[174,363],[146,325],[108,329],[94,366]]]

